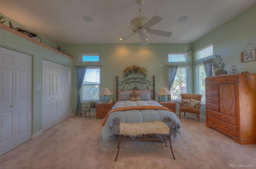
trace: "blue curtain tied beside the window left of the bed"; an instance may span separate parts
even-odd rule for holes
[[[76,67],[76,88],[77,88],[77,103],[76,103],[76,113],[75,115],[80,115],[81,103],[80,103],[80,89],[84,82],[84,75],[86,72],[86,67]]]

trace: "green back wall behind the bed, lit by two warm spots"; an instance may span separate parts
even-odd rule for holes
[[[124,80],[122,71],[126,66],[137,64],[148,68],[148,77],[146,79],[152,81],[152,76],[156,76],[156,91],[161,87],[168,87],[168,53],[186,53],[189,44],[148,44],[143,47],[141,44],[58,44],[62,49],[70,52],[74,58],[73,66],[86,65],[95,66],[102,65],[100,83],[102,87],[108,87],[113,91],[113,95],[109,95],[109,99],[116,101],[116,76],[119,81]],[[79,53],[100,52],[100,63],[79,63]],[[192,63],[181,63],[189,65]],[[73,67],[73,77],[76,76],[76,68]],[[192,66],[191,66],[192,70]],[[192,78],[190,78],[192,80]],[[192,81],[191,81],[192,82]],[[192,84],[192,83],[191,83]],[[76,86],[75,80],[73,86]],[[192,86],[190,91],[192,91]],[[77,93],[77,89],[73,88],[73,93]],[[156,100],[158,95],[156,94]],[[76,107],[76,95],[73,95],[73,112]],[[93,110],[94,111],[94,110]]]

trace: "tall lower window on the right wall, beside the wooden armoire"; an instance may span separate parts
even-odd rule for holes
[[[200,64],[196,66],[196,93],[202,94],[202,101],[205,101],[205,84],[204,78],[206,77],[204,72],[204,65]]]

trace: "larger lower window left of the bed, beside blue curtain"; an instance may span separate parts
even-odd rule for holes
[[[80,89],[81,100],[100,100],[100,68],[87,68]]]

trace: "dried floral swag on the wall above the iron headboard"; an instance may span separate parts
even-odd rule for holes
[[[123,70],[124,77],[127,78],[132,74],[140,74],[144,76],[144,79],[148,76],[147,68],[138,65],[126,66]]]

